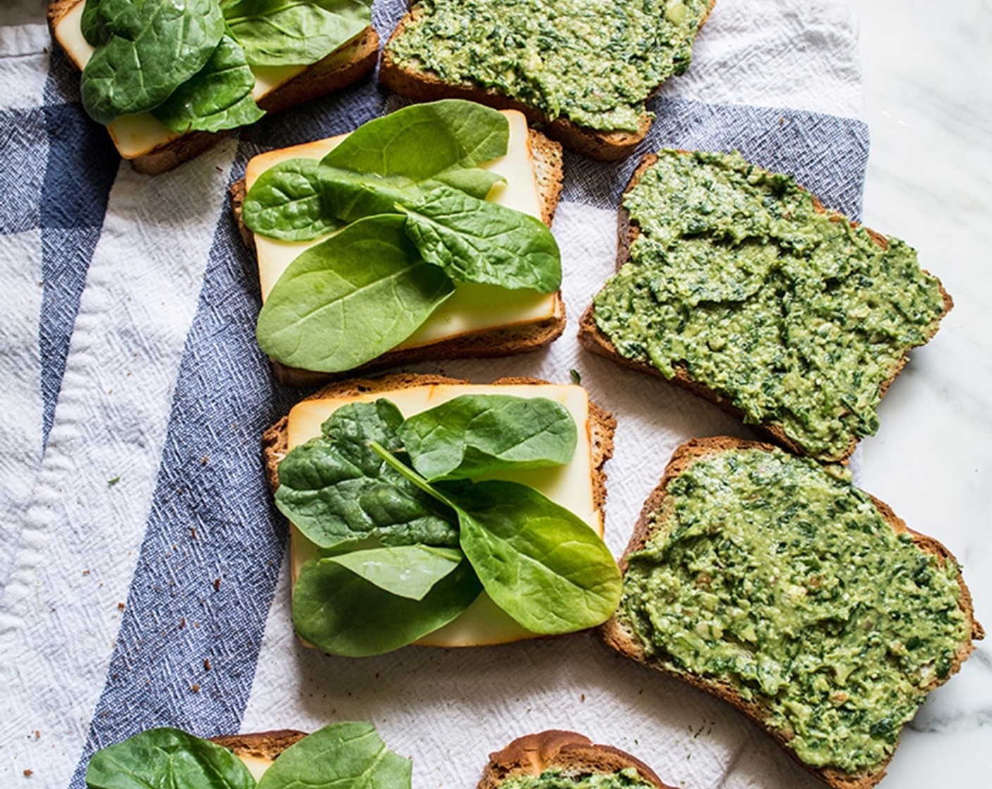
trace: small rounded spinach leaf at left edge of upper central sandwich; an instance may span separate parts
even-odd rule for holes
[[[262,173],[242,206],[248,229],[283,241],[310,241],[341,227],[321,206],[319,170],[315,159],[291,159]]]

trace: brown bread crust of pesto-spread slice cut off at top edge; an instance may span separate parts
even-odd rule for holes
[[[709,6],[699,22],[699,28],[708,19],[716,0],[710,0]],[[590,159],[604,162],[615,162],[630,156],[633,149],[644,140],[651,128],[652,117],[647,112],[641,116],[639,128],[636,131],[598,130],[579,126],[563,116],[549,118],[538,107],[512,98],[493,88],[466,82],[446,82],[430,70],[415,69],[399,66],[390,50],[390,44],[403,35],[404,29],[424,13],[423,8],[415,7],[397,25],[383,49],[382,62],[379,65],[379,81],[401,95],[417,101],[433,101],[438,98],[464,98],[477,101],[496,109],[517,109],[527,115],[528,122],[542,129],[555,140],[572,151],[583,154]],[[466,24],[470,25],[471,20]],[[657,91],[658,87],[655,90]],[[645,99],[650,96],[645,96]]]

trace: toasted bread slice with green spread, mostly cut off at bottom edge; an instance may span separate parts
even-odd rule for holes
[[[549,729],[518,737],[502,750],[490,753],[478,789],[498,789],[509,778],[539,776],[546,770],[560,770],[562,775],[578,779],[630,768],[657,789],[672,789],[651,767],[626,751],[594,744],[574,731]]]

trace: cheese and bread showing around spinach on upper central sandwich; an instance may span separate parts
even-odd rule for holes
[[[529,129],[519,112],[504,113],[510,139],[505,156],[482,167],[506,179],[493,187],[488,199],[505,207],[536,216],[551,225],[561,192],[561,149],[543,134]],[[253,158],[244,181],[232,187],[232,204],[242,235],[258,259],[263,301],[293,260],[319,243],[288,242],[252,233],[241,222],[241,205],[247,190],[269,168],[291,159],[319,160],[345,135],[291,148],[270,151]],[[564,304],[560,293],[508,290],[495,285],[460,282],[455,292],[414,334],[372,362],[361,372],[424,359],[462,356],[504,356],[535,350],[556,339],[564,329]],[[284,383],[312,386],[327,380],[326,373],[303,370],[274,362]],[[352,371],[349,374],[353,374]]]

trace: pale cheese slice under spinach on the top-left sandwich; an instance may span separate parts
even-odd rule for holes
[[[93,55],[93,47],[82,35],[80,20],[85,0],[80,0],[72,6],[55,27],[56,41],[62,50],[81,71]],[[359,36],[362,34],[359,34]],[[357,38],[357,37],[356,37]],[[354,41],[354,39],[352,39]],[[350,42],[348,42],[350,43]],[[348,46],[341,45],[337,52]],[[332,57],[334,54],[332,53]],[[342,54],[343,57],[347,57]],[[255,75],[255,87],[252,96],[258,101],[271,93],[280,85],[290,81],[294,76],[306,70],[308,66],[251,66]],[[150,112],[139,112],[135,115],[124,115],[107,124],[107,131],[124,159],[136,159],[182,137],[179,132],[162,125]]]

